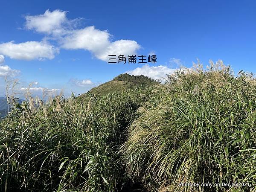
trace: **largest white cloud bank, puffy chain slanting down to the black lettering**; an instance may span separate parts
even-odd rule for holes
[[[47,10],[42,15],[26,16],[26,28],[50,35],[49,39],[58,41],[64,49],[84,49],[93,56],[108,61],[108,55],[136,54],[140,45],[136,41],[111,41],[108,30],[99,30],[95,26],[73,29],[81,18],[69,20],[67,12]]]

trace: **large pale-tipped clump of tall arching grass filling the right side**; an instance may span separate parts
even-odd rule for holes
[[[168,191],[256,190],[256,84],[221,61],[180,70],[128,129],[121,152],[133,177]],[[250,186],[221,186],[248,182]],[[179,183],[220,183],[187,187]]]

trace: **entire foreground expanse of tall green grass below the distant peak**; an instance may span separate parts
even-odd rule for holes
[[[0,122],[0,191],[256,191],[256,80],[218,64],[17,104]]]

